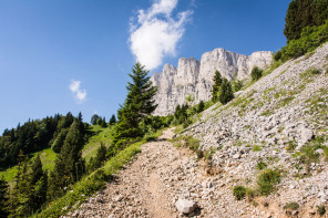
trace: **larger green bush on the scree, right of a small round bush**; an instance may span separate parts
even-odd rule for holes
[[[266,169],[257,178],[258,191],[260,195],[268,196],[275,185],[280,183],[281,174],[278,169]]]

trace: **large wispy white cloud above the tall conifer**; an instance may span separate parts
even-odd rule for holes
[[[175,55],[192,11],[173,14],[177,0],[155,0],[147,10],[131,19],[130,49],[136,61],[148,70],[162,64],[164,56]]]

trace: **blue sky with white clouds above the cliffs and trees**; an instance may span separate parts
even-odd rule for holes
[[[0,134],[55,113],[109,118],[136,60],[161,72],[178,58],[286,44],[289,0],[2,0]]]

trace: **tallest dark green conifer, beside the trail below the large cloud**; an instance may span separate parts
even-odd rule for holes
[[[119,123],[114,133],[116,145],[126,145],[130,141],[142,136],[139,123],[151,115],[156,108],[155,100],[157,87],[152,85],[148,71],[145,66],[136,63],[129,76],[132,82],[127,83],[127,95],[123,105],[119,110]]]

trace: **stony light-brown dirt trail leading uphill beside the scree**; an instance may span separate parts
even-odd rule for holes
[[[142,145],[137,158],[116,175],[113,183],[71,214],[72,217],[176,217],[170,186],[165,177],[180,168],[188,157],[170,142],[172,129],[163,132],[156,142]],[[172,180],[172,178],[171,178]]]

